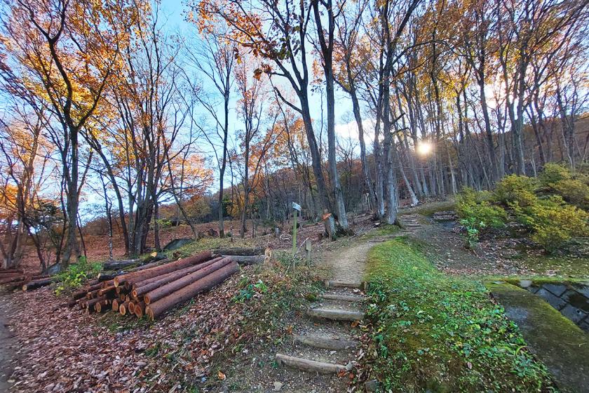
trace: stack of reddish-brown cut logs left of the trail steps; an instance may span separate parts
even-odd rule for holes
[[[121,315],[147,315],[154,320],[199,293],[221,284],[238,272],[231,256],[210,251],[174,262],[154,264],[116,277],[89,281],[72,295],[69,307],[78,306],[88,313],[111,309]]]

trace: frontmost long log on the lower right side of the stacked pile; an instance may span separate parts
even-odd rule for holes
[[[210,288],[221,284],[223,281],[231,277],[232,274],[235,274],[238,271],[239,265],[237,262],[230,262],[229,265],[225,265],[224,267],[208,274],[208,276],[194,281],[192,284],[184,286],[184,288],[180,289],[179,291],[173,292],[170,295],[167,295],[164,298],[161,298],[160,300],[152,303],[151,305],[148,305],[145,307],[145,313],[149,319],[153,321],[168,309],[171,309],[175,305],[194,298],[194,296],[198,295],[199,293],[209,291]]]

